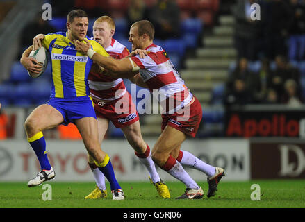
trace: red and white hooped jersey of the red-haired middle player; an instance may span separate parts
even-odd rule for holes
[[[129,51],[123,44],[112,39],[110,46],[105,49],[110,56],[122,59],[129,55]],[[98,69],[91,69],[88,77],[90,95],[101,100],[113,101],[121,98],[126,93],[126,87],[122,78],[105,76]]]

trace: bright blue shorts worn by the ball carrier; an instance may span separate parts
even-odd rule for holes
[[[79,96],[75,99],[51,98],[47,104],[56,108],[63,115],[64,121],[61,124],[65,126],[74,123],[74,119],[84,117],[97,119],[90,96]]]

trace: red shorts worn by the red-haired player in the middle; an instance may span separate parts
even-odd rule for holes
[[[93,99],[93,102],[97,117],[109,119],[116,128],[129,126],[139,120],[139,114],[128,92],[114,101],[103,103]]]

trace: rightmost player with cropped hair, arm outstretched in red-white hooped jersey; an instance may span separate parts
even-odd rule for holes
[[[195,137],[197,133],[202,117],[201,104],[184,85],[165,50],[161,46],[156,46],[153,40],[154,26],[151,22],[142,20],[135,22],[129,31],[129,42],[132,43],[133,50],[131,58],[113,60],[95,53],[88,41],[87,44],[79,41],[75,44],[78,51],[87,53],[94,62],[113,71],[112,76],[122,78],[133,76],[135,83],[142,85],[144,82],[153,94],[154,90],[157,90],[158,94],[165,98],[160,101],[161,107],[165,110],[162,115],[163,132],[153,148],[153,160],[160,168],[186,185],[186,191],[178,197],[179,199],[204,196],[201,187],[190,178],[181,164],[206,173],[207,196],[214,196],[217,184],[224,176],[224,169],[206,164],[192,153],[180,149],[187,136]],[[145,49],[147,56],[143,56],[143,51],[136,49]]]

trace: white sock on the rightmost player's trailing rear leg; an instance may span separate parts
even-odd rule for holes
[[[199,158],[192,155],[188,151],[181,151],[183,153],[180,163],[188,167],[198,169],[201,172],[206,173],[206,176],[211,177],[215,174],[215,167],[203,162]]]

